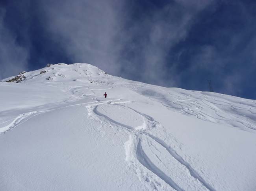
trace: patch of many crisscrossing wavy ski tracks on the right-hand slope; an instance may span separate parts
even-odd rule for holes
[[[225,97],[213,97],[196,92],[190,95],[182,92],[135,91],[151,100],[160,102],[161,105],[176,113],[193,115],[200,120],[227,124],[244,131],[254,133],[256,131],[256,126],[253,125],[256,122],[256,106],[254,101],[249,103],[251,100],[242,100],[237,103],[236,101],[241,98],[234,98],[234,100],[230,101],[226,100]],[[246,112],[255,116],[244,116],[243,114]]]

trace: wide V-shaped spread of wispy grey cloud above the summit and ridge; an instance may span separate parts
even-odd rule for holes
[[[113,75],[130,79],[137,75],[137,80],[171,85],[175,80],[164,80],[170,75],[165,72],[169,51],[186,38],[194,17],[210,2],[177,0],[138,18],[132,17],[132,7],[125,1],[54,1],[41,6],[52,40],[62,44],[75,62],[90,62]]]

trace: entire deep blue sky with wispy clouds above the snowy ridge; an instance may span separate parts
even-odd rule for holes
[[[85,62],[131,80],[256,99],[256,2],[0,1],[0,78]]]

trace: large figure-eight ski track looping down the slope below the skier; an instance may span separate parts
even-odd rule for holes
[[[126,102],[124,102],[126,103]],[[118,104],[118,103],[111,103],[110,102],[106,102],[106,103],[103,103],[103,104],[115,104],[115,105],[118,105],[118,106],[121,106],[123,108],[128,108],[128,109],[131,109],[132,111],[134,111],[135,113],[137,113],[138,115],[141,115],[142,117],[144,117],[146,120],[147,120],[147,128],[146,130],[150,130],[152,128],[155,128],[157,125],[161,127],[161,124],[159,124],[158,122],[156,122],[154,120],[154,118],[152,118],[151,116],[148,116],[144,113],[141,113],[131,107],[128,107],[128,106],[124,106],[124,105],[121,105],[121,104]],[[101,106],[102,107],[102,106]],[[149,171],[151,171],[152,173],[154,173],[156,176],[158,176],[161,180],[163,180],[165,183],[167,183],[169,186],[171,186],[173,189],[177,190],[177,191],[184,191],[184,189],[182,189],[180,186],[178,186],[171,177],[169,177],[168,175],[166,175],[163,171],[161,171],[161,169],[159,169],[151,160],[150,158],[146,155],[146,153],[143,151],[143,148],[142,148],[142,145],[141,145],[141,137],[139,137],[139,135],[141,136],[146,136],[148,138],[151,138],[152,140],[154,140],[155,142],[157,142],[158,144],[160,144],[162,147],[164,147],[168,153],[176,160],[178,161],[182,166],[184,166],[186,169],[188,169],[191,177],[197,179],[204,187],[206,187],[209,191],[215,191],[215,189],[208,183],[206,182],[206,180],[204,180],[204,178],[202,178],[202,176],[200,176],[197,171],[191,167],[191,165],[186,162],[180,155],[177,154],[177,152],[171,147],[171,146],[168,146],[163,140],[161,140],[160,138],[158,137],[155,137],[153,135],[151,135],[150,133],[147,133],[145,132],[145,129],[143,130],[137,130],[136,128],[134,127],[131,127],[131,126],[127,126],[125,124],[122,124],[120,122],[117,122],[113,119],[111,119],[109,116],[107,115],[104,115],[102,113],[100,113],[98,110],[98,105],[96,105],[94,108],[93,108],[93,113],[98,116],[98,118],[100,119],[100,117],[103,117],[105,118],[106,120],[108,120],[109,123],[112,123],[112,124],[115,124],[117,126],[121,126],[121,127],[124,127],[126,130],[128,130],[130,133],[132,133],[135,137],[137,137],[137,146],[136,149],[135,149],[135,156],[136,156],[136,159],[137,161],[143,165],[145,168],[147,168]],[[106,112],[106,111],[105,111]],[[107,113],[107,112],[106,112]],[[148,127],[148,126],[151,126]],[[129,138],[129,141],[131,138]],[[128,145],[132,146],[134,145],[135,143],[131,144],[129,143]],[[127,147],[127,146],[126,146]],[[131,150],[131,149],[127,149],[126,148],[126,153],[129,153],[129,151],[127,150]],[[130,155],[130,154],[129,154]],[[128,156],[126,156],[127,158]],[[126,159],[127,160],[127,159]]]

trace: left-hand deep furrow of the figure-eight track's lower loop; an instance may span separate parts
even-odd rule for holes
[[[180,186],[178,186],[173,179],[171,179],[169,176],[167,176],[163,171],[161,171],[156,165],[154,165],[151,160],[148,158],[146,153],[143,151],[141,146],[141,140],[139,139],[137,149],[136,149],[136,156],[139,162],[146,167],[148,170],[150,170],[152,173],[154,173],[156,176],[161,178],[164,182],[166,182],[169,186],[171,186],[173,189],[177,191],[185,191]]]

